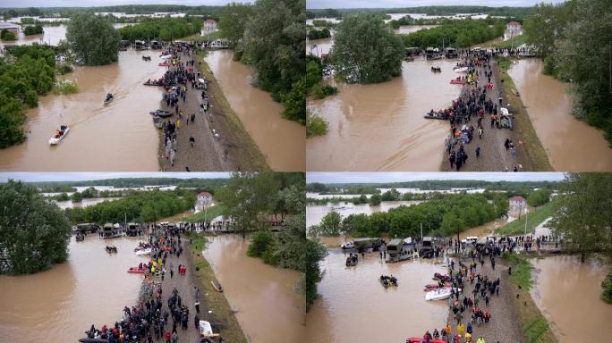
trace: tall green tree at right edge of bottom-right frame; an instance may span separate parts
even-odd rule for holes
[[[548,227],[573,244],[581,261],[595,251],[612,251],[612,173],[569,173],[559,188],[559,206]]]

